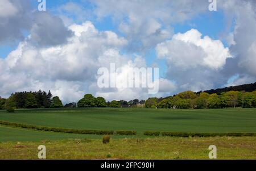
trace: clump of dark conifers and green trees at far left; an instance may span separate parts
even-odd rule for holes
[[[46,93],[39,90],[36,92],[16,92],[8,99],[0,97],[0,109],[36,109],[63,107],[59,97],[52,97],[51,91]]]

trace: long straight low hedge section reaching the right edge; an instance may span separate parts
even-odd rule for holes
[[[192,133],[192,132],[162,132],[162,136],[198,136],[198,137],[210,137],[210,136],[256,136],[256,133]]]

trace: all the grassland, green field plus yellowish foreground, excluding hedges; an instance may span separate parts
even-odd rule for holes
[[[0,125],[0,159],[256,159],[256,137],[155,137],[143,131],[256,132],[256,109],[39,109],[0,111],[0,120],[36,126],[85,130],[134,130],[137,136],[81,135]]]

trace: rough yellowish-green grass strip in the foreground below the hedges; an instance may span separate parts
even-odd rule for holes
[[[256,159],[256,137],[150,137],[146,139],[69,139],[0,143],[0,159],[38,159],[46,145],[47,159],[208,159],[209,145],[217,159]]]

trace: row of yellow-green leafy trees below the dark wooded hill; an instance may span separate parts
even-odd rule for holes
[[[256,91],[227,91],[216,93],[200,93],[184,91],[168,98],[148,98],[145,104],[148,108],[165,109],[218,109],[226,107],[256,107]]]

